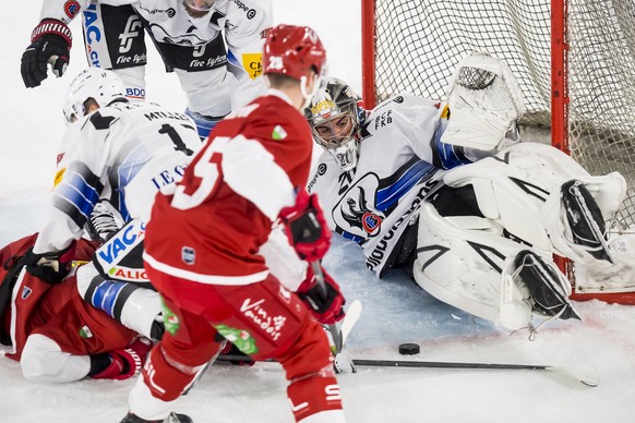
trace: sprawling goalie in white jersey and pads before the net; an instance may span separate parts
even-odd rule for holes
[[[531,328],[532,314],[580,318],[552,255],[624,259],[604,225],[624,178],[518,143],[525,106],[503,61],[469,55],[448,87],[447,104],[402,94],[367,114],[332,78],[305,111],[325,149],[309,190],[380,278],[406,267],[441,301],[508,329]]]

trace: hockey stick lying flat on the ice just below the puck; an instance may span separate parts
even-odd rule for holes
[[[572,371],[553,365],[535,365],[535,364],[501,364],[501,363],[463,363],[463,362],[443,362],[443,361],[407,361],[407,360],[360,360],[354,359],[355,365],[375,366],[375,367],[427,367],[427,368],[480,368],[480,370],[527,370],[527,371],[550,371],[558,372],[573,377],[583,385],[595,388],[598,386],[596,380],[583,378]]]

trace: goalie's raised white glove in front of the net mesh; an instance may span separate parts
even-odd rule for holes
[[[472,52],[447,85],[450,120],[441,141],[480,150],[499,150],[525,113],[523,93],[510,67],[486,52]]]

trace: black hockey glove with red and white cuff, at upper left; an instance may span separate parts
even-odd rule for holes
[[[46,19],[33,29],[31,46],[22,53],[22,80],[27,88],[39,86],[47,77],[50,63],[56,76],[67,71],[73,37],[61,21]]]

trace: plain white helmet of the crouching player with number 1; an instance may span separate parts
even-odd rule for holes
[[[95,100],[99,107],[125,98],[123,81],[112,71],[88,68],[71,82],[64,97],[63,112],[67,123],[86,114],[86,100]]]

